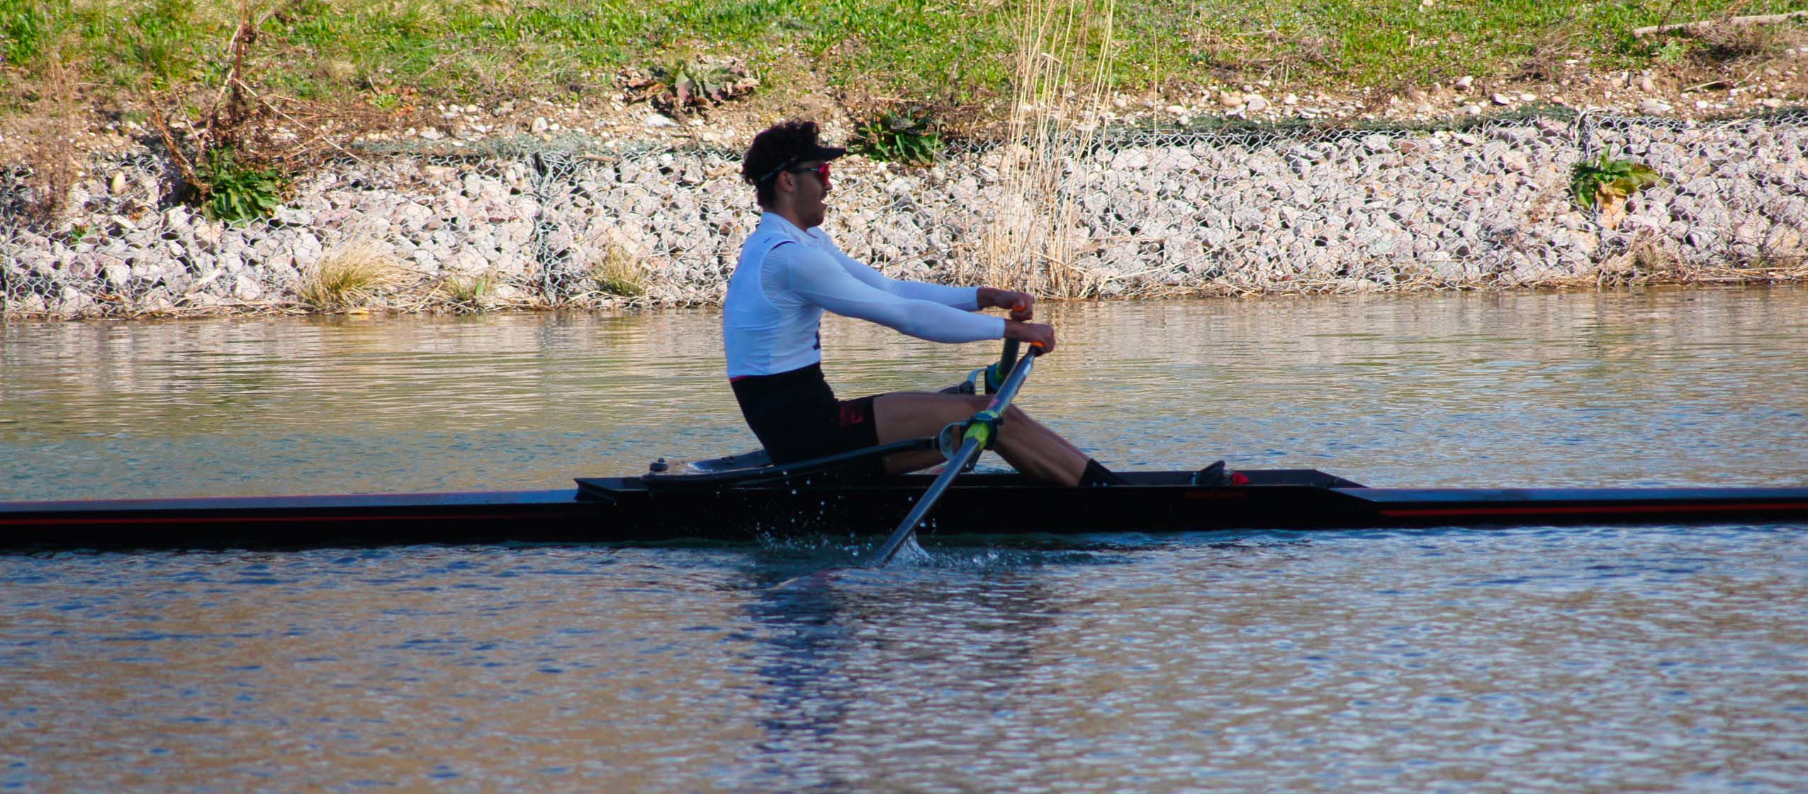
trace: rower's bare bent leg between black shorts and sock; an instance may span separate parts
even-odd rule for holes
[[[935,436],[949,421],[965,421],[973,414],[985,411],[987,403],[991,403],[991,398],[978,394],[920,391],[879,394],[873,400],[873,429],[879,432],[879,443]],[[1054,430],[1031,420],[1029,414],[1016,407],[1005,411],[996,450],[1012,468],[1059,485],[1078,485],[1090,459],[1078,447],[1067,443],[1067,440],[1056,436]],[[913,472],[940,461],[942,456],[938,452],[895,454],[886,458],[886,472]]]

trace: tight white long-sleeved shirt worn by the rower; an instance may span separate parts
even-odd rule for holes
[[[741,244],[721,311],[729,378],[777,374],[823,360],[823,309],[929,342],[1003,338],[1002,317],[975,315],[978,288],[886,279],[841,253],[821,228],[765,213]]]

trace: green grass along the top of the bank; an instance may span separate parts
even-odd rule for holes
[[[278,7],[264,4],[264,7]],[[855,101],[994,112],[1012,31],[998,0],[298,0],[266,20],[253,76],[287,96],[383,109],[607,96],[624,67],[743,58],[765,90],[815,72]],[[1692,45],[1640,25],[1763,14],[1801,0],[1123,0],[1121,90],[1271,81],[1345,90],[1511,78],[1539,54],[1625,69]],[[56,40],[83,80],[139,87],[224,71],[237,0],[0,0],[0,80],[25,85]],[[13,80],[24,74],[27,80]],[[0,92],[11,92],[0,89]],[[105,98],[103,98],[105,99]],[[9,107],[20,107],[11,101]]]

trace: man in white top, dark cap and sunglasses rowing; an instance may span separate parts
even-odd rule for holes
[[[985,409],[987,398],[886,392],[837,400],[823,378],[823,311],[877,322],[931,342],[1014,338],[1054,351],[1054,327],[1034,318],[1036,298],[1000,288],[953,288],[895,280],[861,264],[823,233],[830,161],[815,121],[783,121],[758,136],[741,159],[763,213],[741,244],[729,279],[721,331],[729,382],[741,416],[774,463],[937,436]],[[978,315],[1009,309],[1009,318]],[[1058,485],[1121,485],[1061,436],[1011,407],[996,450],[1016,470]],[[880,477],[940,463],[935,450],[873,459],[861,476]]]

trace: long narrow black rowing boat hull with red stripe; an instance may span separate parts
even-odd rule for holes
[[[1096,534],[1242,528],[1797,523],[1808,488],[1365,488],[1316,470],[1258,470],[1246,487],[1190,472],[1063,488],[971,474],[926,534]],[[0,548],[298,548],[409,543],[622,543],[880,534],[928,476],[882,485],[580,479],[579,490],[0,503]]]

